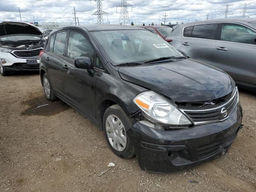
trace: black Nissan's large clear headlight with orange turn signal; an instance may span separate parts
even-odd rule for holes
[[[173,104],[153,91],[138,94],[133,102],[152,120],[168,125],[188,125],[191,122]]]

